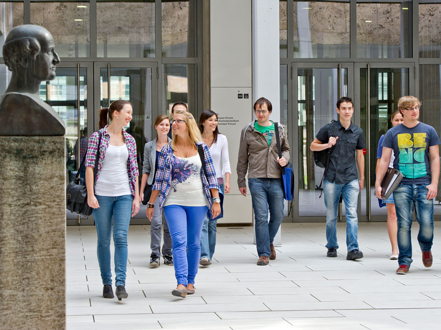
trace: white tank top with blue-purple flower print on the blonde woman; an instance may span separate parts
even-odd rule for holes
[[[204,194],[200,168],[202,163],[199,154],[188,158],[173,155],[172,181],[170,190],[163,206],[207,206],[208,201]]]

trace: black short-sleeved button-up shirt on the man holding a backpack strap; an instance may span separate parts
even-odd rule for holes
[[[366,145],[363,139],[363,130],[352,122],[347,130],[344,129],[340,120],[335,125],[339,138],[329,158],[325,179],[336,184],[346,184],[358,178],[355,150],[364,149]],[[331,135],[331,124],[326,124],[316,137],[321,143],[328,143]]]

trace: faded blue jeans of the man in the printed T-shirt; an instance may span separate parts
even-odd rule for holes
[[[398,184],[393,191],[397,218],[398,264],[412,263],[411,227],[414,208],[419,223],[418,243],[422,252],[433,243],[433,199],[426,199],[429,184]]]

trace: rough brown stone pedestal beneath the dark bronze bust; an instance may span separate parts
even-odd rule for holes
[[[0,328],[65,329],[65,137],[0,136]]]

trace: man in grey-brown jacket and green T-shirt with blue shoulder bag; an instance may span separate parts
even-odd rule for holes
[[[241,132],[237,161],[237,184],[246,196],[245,175],[248,172],[248,186],[254,210],[258,265],[269,264],[275,259],[272,244],[283,220],[283,184],[281,167],[290,159],[290,146],[285,126],[278,124],[282,157],[277,154],[274,122],[270,118],[272,105],[264,97],[253,106],[257,120],[249,123]],[[270,221],[268,221],[270,211]]]

